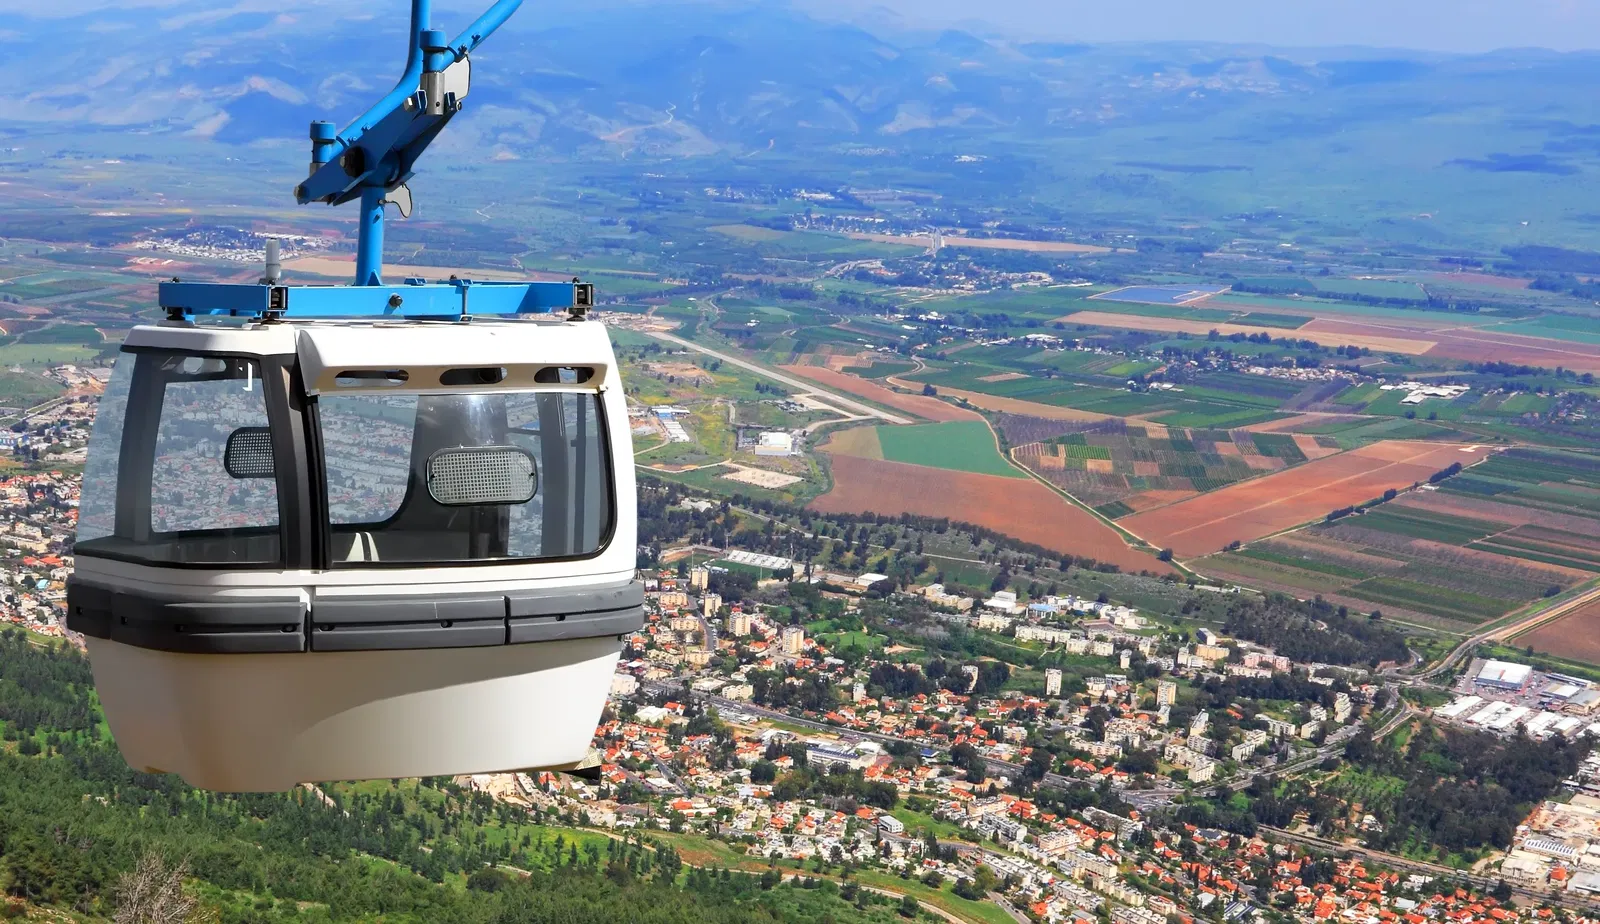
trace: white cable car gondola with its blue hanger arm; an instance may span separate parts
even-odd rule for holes
[[[202,788],[568,769],[640,628],[627,409],[579,283],[382,285],[386,203],[467,54],[413,0],[400,86],[312,125],[355,286],[171,281],[90,440],[67,588],[128,764]],[[454,74],[453,74],[454,72]]]

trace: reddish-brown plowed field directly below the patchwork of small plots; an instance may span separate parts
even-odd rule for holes
[[[1221,550],[1230,542],[1251,542],[1331,510],[1379,497],[1389,488],[1410,488],[1451,462],[1470,465],[1488,456],[1453,443],[1387,440],[1350,452],[1240,481],[1170,507],[1118,520],[1130,532],[1179,558]]]

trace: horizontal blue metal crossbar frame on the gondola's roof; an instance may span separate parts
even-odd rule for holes
[[[398,286],[266,286],[162,283],[168,313],[288,318],[459,318],[462,315],[536,315],[587,309],[592,289],[581,283],[477,283],[406,280]]]

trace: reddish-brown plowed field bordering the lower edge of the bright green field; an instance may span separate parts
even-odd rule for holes
[[[830,460],[834,489],[811,502],[821,513],[949,516],[1123,571],[1168,571],[1154,555],[1128,548],[1114,529],[1032,480],[837,454]]]

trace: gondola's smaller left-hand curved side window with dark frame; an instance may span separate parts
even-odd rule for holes
[[[224,460],[235,433],[270,435],[254,360],[125,353],[96,416],[78,555],[154,564],[277,564],[278,489]]]

